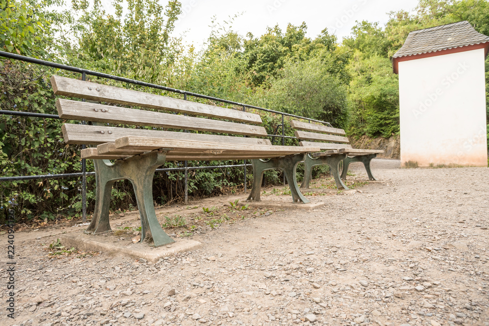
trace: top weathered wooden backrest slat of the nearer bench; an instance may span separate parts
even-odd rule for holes
[[[225,109],[192,101],[184,101],[137,90],[95,84],[78,79],[52,76],[51,85],[55,95],[72,96],[87,100],[117,103],[142,108],[169,110],[257,125],[262,123],[260,116],[254,113]]]

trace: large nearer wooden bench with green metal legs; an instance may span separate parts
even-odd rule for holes
[[[53,76],[51,85],[56,95],[180,113],[61,98],[56,101],[61,118],[91,122],[62,126],[67,144],[96,145],[81,151],[82,158],[93,159],[96,177],[95,210],[86,233],[111,231],[111,188],[115,181],[128,179],[133,184],[141,217],[141,241],[153,239],[155,246],[174,242],[156,219],[152,192],[156,168],[170,160],[251,159],[253,185],[248,200],[260,200],[264,171],[278,168],[285,173],[293,201],[309,202],[297,187],[295,168],[304,160],[306,152],[318,152],[319,148],[273,146],[268,139],[253,138],[267,136],[265,128],[257,126],[262,123],[257,114],[60,76]],[[138,129],[139,126],[150,126],[153,130]],[[197,130],[233,136],[155,129]],[[116,161],[111,163],[110,160]]]

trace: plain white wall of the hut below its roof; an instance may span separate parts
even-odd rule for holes
[[[402,166],[487,166],[484,49],[399,63]]]

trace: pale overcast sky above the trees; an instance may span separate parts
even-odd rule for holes
[[[162,0],[163,1],[163,0]],[[229,16],[243,13],[233,23],[233,30],[254,36],[265,33],[267,26],[277,23],[285,31],[287,24],[306,22],[308,36],[316,37],[324,28],[341,41],[350,35],[355,21],[388,21],[390,11],[412,11],[418,0],[181,0],[182,14],[175,26],[174,35],[186,32],[184,42],[193,43],[200,50],[210,34],[212,17],[217,22],[229,21]]]

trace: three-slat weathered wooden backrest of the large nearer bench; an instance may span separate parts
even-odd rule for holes
[[[56,108],[61,118],[98,123],[98,125],[65,123],[62,130],[65,142],[68,144],[98,145],[114,142],[115,139],[124,136],[146,136],[247,145],[271,145],[268,139],[243,137],[243,135],[267,136],[264,127],[256,126],[262,123],[258,114],[60,76],[52,76],[51,85],[55,95],[179,113],[58,99]],[[183,113],[190,116],[183,115]],[[215,120],[215,118],[222,120]],[[102,126],[102,123],[150,126],[154,129],[195,130],[239,136],[110,127]]]

